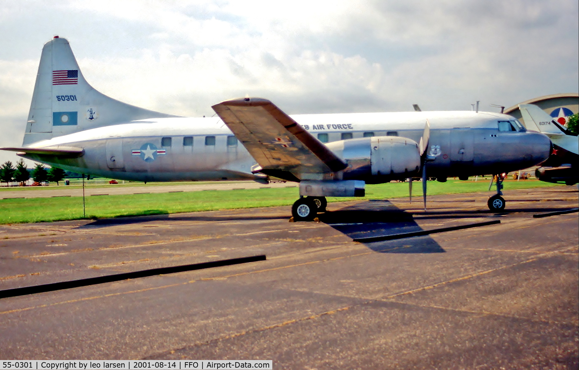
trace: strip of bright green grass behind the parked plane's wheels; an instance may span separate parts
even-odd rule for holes
[[[483,181],[428,182],[428,195],[487,192],[490,179]],[[505,181],[504,190],[564,186],[537,180]],[[494,190],[494,187],[493,187]],[[489,195],[492,191],[489,192]],[[298,198],[298,188],[240,189],[107,195],[86,197],[86,218],[124,217],[148,214],[228,210],[236,208],[289,206]],[[367,185],[365,198],[328,198],[328,202],[362,199],[391,199],[408,196],[408,183]],[[422,183],[413,183],[413,196],[422,196]],[[82,197],[3,199],[0,224],[50,222],[83,219]]]

